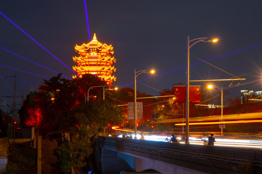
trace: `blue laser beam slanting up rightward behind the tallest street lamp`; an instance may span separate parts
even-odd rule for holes
[[[241,52],[241,51],[245,51],[245,50],[247,50],[247,49],[251,49],[251,48],[254,48],[254,47],[257,47],[257,46],[261,46],[261,45],[262,45],[262,43],[258,43],[258,44],[255,44],[255,45],[252,45],[252,46],[248,46],[248,47],[246,47],[246,48],[242,48],[242,49],[239,49],[239,50],[236,50],[236,51],[233,51],[233,52],[230,52],[230,53],[221,55],[221,56],[217,56],[217,57],[215,57],[215,58],[209,58],[209,59],[207,59],[207,60],[205,60],[205,61],[207,62],[207,61],[210,61],[210,60],[214,60],[214,59],[216,59],[216,58],[222,58],[222,57],[229,56],[229,55],[232,55],[232,54],[235,54],[235,53],[238,53],[238,52]],[[203,62],[203,61],[199,61],[199,62],[197,62],[197,63],[194,63],[194,64],[189,65],[189,67],[194,66],[194,65],[198,65],[198,64],[200,64],[200,63],[204,63],[204,62]],[[161,73],[161,74],[158,74],[158,75],[154,75],[154,76],[152,76],[152,77],[148,77],[148,78],[139,80],[139,81],[137,81],[137,82],[144,81],[144,80],[147,80],[147,79],[150,79],[150,78],[154,78],[154,77],[157,77],[157,76],[159,76],[159,75],[164,75],[164,74],[167,74],[167,73],[172,73],[172,72],[175,72],[175,71],[178,71],[178,70],[182,70],[182,69],[185,69],[185,68],[186,68],[186,66],[181,67],[181,68],[178,68],[178,69],[175,69],[175,70],[172,70],[172,71],[169,71],[169,72],[166,72],[166,73]],[[125,86],[127,86],[127,85],[131,85],[131,84],[134,84],[134,83],[135,83],[135,82],[132,82],[132,83],[129,83],[129,84],[120,86],[120,87],[125,87]]]

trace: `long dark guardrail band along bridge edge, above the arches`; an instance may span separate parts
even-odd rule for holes
[[[210,161],[217,161],[217,163],[220,163],[220,167],[223,166],[223,163],[227,163],[228,166],[225,166],[225,168],[232,170],[231,168],[240,168],[245,163],[255,166],[256,171],[262,172],[262,150],[257,149],[190,145],[102,136],[97,139],[97,143],[101,147],[123,153],[127,152],[154,160],[162,158],[162,160],[170,161],[170,163],[175,161],[176,165],[181,164],[182,160],[185,163],[198,163],[198,165],[202,165],[203,161],[207,161],[205,165],[209,165],[208,162],[211,164]],[[210,166],[214,168],[213,164]]]

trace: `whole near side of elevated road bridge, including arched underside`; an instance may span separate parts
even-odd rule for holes
[[[162,174],[262,173],[262,151],[259,149],[102,136],[97,139],[97,147],[101,149],[101,161],[121,158],[136,172],[153,169]],[[113,153],[107,156],[108,151]],[[101,165],[103,168],[106,164]],[[110,163],[111,168],[117,166],[117,163]]]

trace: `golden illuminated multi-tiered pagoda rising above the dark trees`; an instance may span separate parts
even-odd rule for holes
[[[76,52],[79,57],[73,57],[77,66],[73,66],[73,70],[77,72],[79,77],[84,74],[94,74],[105,80],[109,86],[112,86],[112,82],[116,81],[116,77],[111,74],[116,71],[116,68],[112,66],[116,62],[112,45],[102,44],[97,41],[95,33],[90,43],[83,43],[81,46],[75,46]],[[73,75],[73,78],[77,77]]]

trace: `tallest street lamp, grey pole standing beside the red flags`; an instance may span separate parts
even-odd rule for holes
[[[190,45],[190,42],[193,42]],[[189,144],[189,49],[191,46],[193,46],[196,43],[199,42],[216,42],[217,39],[214,40],[207,40],[206,37],[197,38],[193,40],[189,40],[189,36],[187,36],[187,42],[186,42],[186,101],[185,101],[185,144]]]

